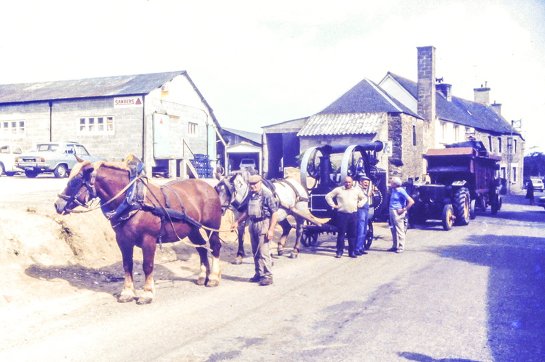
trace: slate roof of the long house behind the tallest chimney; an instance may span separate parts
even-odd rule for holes
[[[414,99],[418,96],[418,83],[403,78],[394,73],[388,72],[401,87],[405,88]],[[509,122],[504,117],[495,113],[491,106],[473,102],[471,100],[464,100],[452,96],[451,102],[449,102],[440,91],[436,94],[436,113],[440,120],[445,120],[460,124],[462,126],[469,126],[475,129],[488,131],[491,133],[511,133],[518,135]]]

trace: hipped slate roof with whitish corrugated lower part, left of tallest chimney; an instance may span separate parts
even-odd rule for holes
[[[367,78],[323,111],[309,117],[298,136],[361,135],[377,133],[387,113],[421,118]]]

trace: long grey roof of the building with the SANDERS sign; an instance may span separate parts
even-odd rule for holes
[[[186,71],[54,82],[0,84],[0,104],[147,94],[182,74],[186,74]]]

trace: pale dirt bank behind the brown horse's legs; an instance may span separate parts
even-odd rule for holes
[[[0,306],[54,299],[81,289],[111,294],[120,291],[121,254],[114,230],[103,214],[97,210],[61,216],[43,210],[44,207],[0,210],[0,273],[6,275],[0,290]],[[232,221],[233,216],[226,214],[222,230],[229,229]],[[228,262],[236,253],[236,236],[223,232],[220,237],[226,240],[222,261]],[[134,260],[135,282],[141,286],[144,278],[142,253],[138,248]],[[199,271],[193,247],[183,241],[165,244],[156,252],[156,280],[178,273],[180,265],[174,262],[189,262],[184,268],[189,270],[187,278],[193,278]],[[166,267],[167,264],[174,270]]]

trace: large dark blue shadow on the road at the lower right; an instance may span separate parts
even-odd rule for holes
[[[472,236],[435,252],[490,268],[488,339],[494,361],[545,361],[544,238]]]

